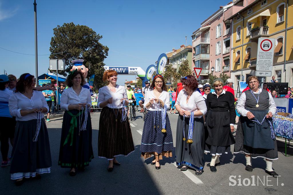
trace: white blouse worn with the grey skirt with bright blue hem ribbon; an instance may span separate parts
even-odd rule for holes
[[[179,105],[181,109],[189,111],[189,112],[195,112],[197,110],[200,110],[202,115],[205,115],[207,112],[207,105],[205,103],[205,98],[202,97],[202,95],[195,90],[188,100],[188,103],[186,103],[187,100],[187,93],[185,90],[181,90],[177,96],[177,101],[175,103],[176,105]],[[189,116],[186,116],[189,117]],[[201,118],[202,116],[194,116],[194,118]]]

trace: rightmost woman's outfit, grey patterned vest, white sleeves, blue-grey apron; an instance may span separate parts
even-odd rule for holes
[[[278,159],[273,122],[272,119],[265,118],[268,112],[275,114],[277,111],[272,95],[263,89],[258,92],[247,90],[241,94],[236,109],[241,116],[236,131],[234,153],[251,154],[252,158]],[[255,118],[246,117],[249,111]]]

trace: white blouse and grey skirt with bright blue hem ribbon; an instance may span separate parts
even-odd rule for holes
[[[207,112],[205,99],[200,92],[197,90],[194,91],[188,103],[186,103],[187,96],[185,90],[181,90],[175,105],[179,105],[181,109],[189,112],[200,110],[203,115]],[[178,117],[176,130],[176,164],[202,171],[205,165],[204,119],[202,116],[194,116],[192,120],[193,125],[190,123],[190,116],[179,115]],[[188,138],[192,138],[192,143],[188,143]]]

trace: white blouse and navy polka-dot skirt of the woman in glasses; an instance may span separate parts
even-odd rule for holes
[[[144,96],[144,108],[150,99],[155,98],[154,91],[148,91]],[[144,129],[142,132],[142,142],[140,151],[142,157],[147,159],[154,155],[156,160],[162,160],[163,156],[172,157],[173,137],[169,117],[164,114],[170,108],[170,94],[163,91],[159,97],[164,102],[164,108],[160,103],[154,101],[148,108]],[[162,113],[163,112],[163,113]],[[163,114],[163,116],[162,116]],[[162,125],[163,119],[163,125]]]

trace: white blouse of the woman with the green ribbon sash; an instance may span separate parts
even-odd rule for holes
[[[60,107],[63,110],[68,110],[69,105],[89,104],[91,106],[91,92],[87,88],[81,88],[79,95],[72,87],[64,89],[60,98]]]

